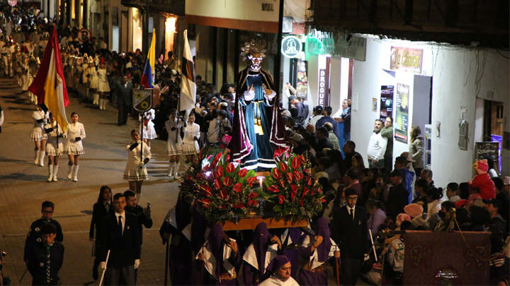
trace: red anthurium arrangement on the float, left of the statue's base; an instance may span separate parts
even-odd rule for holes
[[[230,220],[236,222],[258,204],[260,189],[254,189],[255,171],[241,169],[227,157],[215,155],[203,176],[193,180],[196,190],[194,203],[210,223]],[[207,201],[206,201],[207,200]]]

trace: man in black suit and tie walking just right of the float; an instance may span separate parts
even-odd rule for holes
[[[356,205],[356,189],[345,191],[347,204],[333,210],[331,238],[340,246],[343,285],[356,285],[363,258],[368,253],[368,226],[366,210]]]

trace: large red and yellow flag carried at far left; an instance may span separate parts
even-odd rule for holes
[[[50,40],[46,45],[44,56],[42,56],[39,71],[28,91],[37,95],[38,105],[46,105],[50,109],[53,117],[62,127],[62,131],[65,132],[67,129],[65,107],[69,105],[69,97],[67,96],[55,25],[53,25]]]

